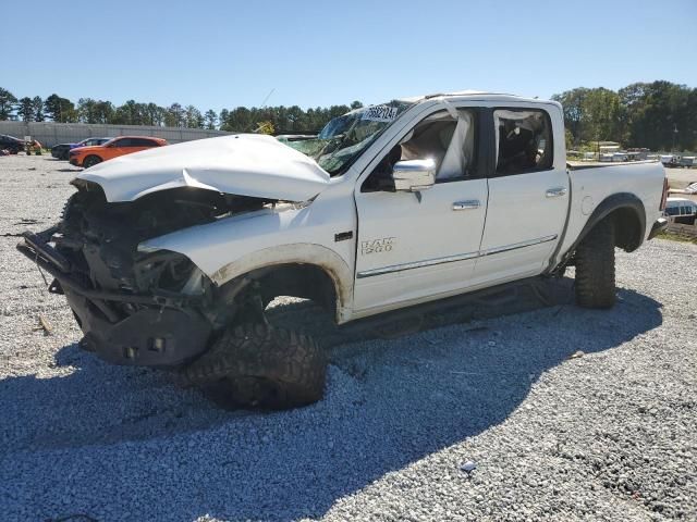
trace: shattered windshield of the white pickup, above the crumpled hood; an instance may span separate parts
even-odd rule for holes
[[[341,174],[413,103],[393,100],[356,109],[331,120],[316,138],[286,145],[314,158],[332,176]]]

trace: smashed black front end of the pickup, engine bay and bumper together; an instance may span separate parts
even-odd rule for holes
[[[245,279],[217,287],[185,256],[138,251],[145,239],[259,210],[273,200],[181,187],[108,202],[75,179],[61,222],[17,249],[48,272],[85,334],[81,346],[117,364],[175,366],[201,355],[244,307]]]

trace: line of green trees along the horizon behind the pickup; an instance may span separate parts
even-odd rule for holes
[[[564,108],[566,141],[582,147],[594,141],[617,141],[625,147],[652,150],[697,149],[697,88],[670,82],[635,83],[616,91],[603,87],[578,87],[552,99]],[[25,122],[102,123],[221,129],[229,132],[317,132],[334,116],[363,107],[292,107],[212,109],[194,105],[139,103],[122,105],[80,98],[73,102],[56,94],[17,99],[0,88],[0,120],[19,117]]]

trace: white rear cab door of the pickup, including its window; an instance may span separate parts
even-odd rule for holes
[[[562,235],[570,201],[561,111],[555,105],[489,112],[494,154],[487,222],[474,285],[541,273]]]

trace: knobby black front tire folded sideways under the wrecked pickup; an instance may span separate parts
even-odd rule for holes
[[[228,328],[183,377],[223,407],[283,410],[321,399],[326,373],[325,353],[309,336],[243,324]]]

